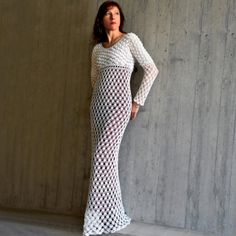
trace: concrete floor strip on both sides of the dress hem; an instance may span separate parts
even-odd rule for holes
[[[82,222],[58,215],[0,211],[0,236],[82,236]],[[103,236],[215,236],[133,222],[117,233]]]

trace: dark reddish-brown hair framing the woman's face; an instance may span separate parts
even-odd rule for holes
[[[107,13],[110,7],[117,7],[120,11],[120,27],[119,30],[122,33],[123,31],[125,17],[120,5],[115,1],[105,1],[98,9],[97,16],[93,25],[93,40],[94,43],[106,42],[108,40],[105,27],[103,25],[103,17]]]

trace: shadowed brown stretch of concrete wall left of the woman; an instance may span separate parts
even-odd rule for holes
[[[95,12],[93,1],[0,1],[3,207],[84,210]]]

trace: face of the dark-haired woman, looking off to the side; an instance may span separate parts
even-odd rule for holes
[[[120,11],[116,6],[108,8],[103,17],[103,25],[107,31],[119,30],[120,27]]]

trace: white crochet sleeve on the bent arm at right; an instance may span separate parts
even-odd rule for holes
[[[144,70],[141,85],[133,99],[136,103],[143,106],[159,71],[151,56],[144,48],[141,40],[134,33],[131,33],[129,47],[133,57],[138,61]]]

